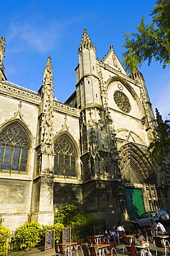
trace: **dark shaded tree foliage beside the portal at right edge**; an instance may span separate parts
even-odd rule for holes
[[[158,125],[158,138],[149,145],[149,156],[153,166],[162,170],[170,161],[170,120],[162,120],[156,109],[156,122]]]

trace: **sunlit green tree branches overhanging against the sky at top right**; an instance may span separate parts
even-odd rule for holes
[[[163,64],[163,68],[170,63],[170,1],[157,0],[151,11],[152,21],[150,25],[145,24],[145,18],[136,26],[138,33],[127,32],[125,37],[125,48],[123,53],[123,64],[127,71],[135,73],[145,60],[148,65],[154,58]]]

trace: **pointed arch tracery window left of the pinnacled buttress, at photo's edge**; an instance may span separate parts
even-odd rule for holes
[[[26,173],[29,148],[28,136],[21,125],[15,123],[1,131],[1,172]]]

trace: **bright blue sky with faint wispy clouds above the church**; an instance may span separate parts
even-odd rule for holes
[[[125,48],[121,31],[136,32],[141,17],[147,23],[153,9],[151,0],[6,0],[1,1],[0,37],[6,37],[6,77],[9,82],[38,91],[47,57],[51,56],[54,96],[61,102],[75,91],[78,46],[86,28],[102,60],[114,45],[120,61]],[[162,118],[169,118],[170,67],[152,62],[140,70],[145,77],[153,106]]]

